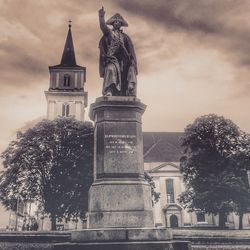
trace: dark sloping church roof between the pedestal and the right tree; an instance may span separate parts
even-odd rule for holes
[[[181,132],[143,132],[144,162],[179,162]]]

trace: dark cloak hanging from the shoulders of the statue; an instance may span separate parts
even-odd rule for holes
[[[128,88],[127,77],[128,75],[131,74],[131,73],[129,74],[129,68],[130,66],[133,67],[132,72],[134,72],[135,75],[138,74],[138,70],[137,70],[137,60],[136,60],[133,43],[128,35],[126,35],[125,33],[122,33],[122,35],[123,35],[123,42],[124,42],[125,49],[122,48],[123,50],[123,55],[121,56],[122,58],[117,58],[117,59],[119,63],[122,61],[122,64],[124,67],[123,72],[119,72],[119,73],[121,73],[121,94],[126,95],[125,94],[126,89]],[[107,66],[107,51],[108,51],[108,46],[110,46],[110,43],[111,43],[110,39],[111,38],[109,36],[104,35],[99,42],[99,49],[100,49],[99,73],[100,73],[100,77],[102,78],[105,77],[105,68]],[[105,87],[108,87],[108,86],[105,86]],[[118,90],[120,90],[119,87],[118,87]]]

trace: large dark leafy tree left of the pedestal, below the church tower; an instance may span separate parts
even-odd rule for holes
[[[84,217],[92,183],[93,126],[73,118],[43,120],[18,132],[2,153],[0,200],[14,209],[18,197],[38,200],[56,220]]]

